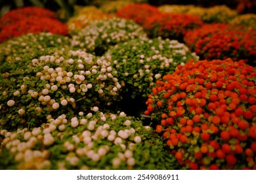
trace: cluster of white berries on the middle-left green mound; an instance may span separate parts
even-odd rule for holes
[[[32,99],[37,99],[41,103],[35,107],[35,112],[39,114],[45,107],[49,108],[50,112],[66,106],[76,107],[76,101],[85,99],[89,91],[93,91],[90,93],[99,100],[108,100],[108,104],[111,103],[110,99],[118,97],[121,84],[116,78],[117,71],[112,68],[110,61],[96,59],[92,54],[81,50],[71,50],[68,53],[69,58],[64,58],[61,54],[56,52],[53,55],[32,59],[32,68],[37,71],[41,69],[35,75],[39,82],[35,83],[32,89],[28,83],[33,76],[24,76],[23,84],[12,93],[12,99],[6,101],[7,106],[19,106],[16,112],[23,116],[27,108],[17,104],[23,95],[29,94]],[[3,94],[7,95],[8,92]],[[96,112],[98,109],[94,107],[93,111]]]

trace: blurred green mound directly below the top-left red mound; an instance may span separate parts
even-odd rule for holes
[[[71,39],[63,35],[28,33],[0,44],[0,55],[8,60],[10,56],[17,57],[22,54],[33,54],[35,50],[45,48],[68,48],[70,44]]]

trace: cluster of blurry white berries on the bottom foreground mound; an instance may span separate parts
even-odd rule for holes
[[[54,146],[55,139],[62,139],[68,126],[71,126],[73,129],[80,129],[81,132],[70,134],[69,138],[65,138],[66,140],[62,142],[63,149],[68,152],[66,158],[60,159],[58,162],[60,163],[58,164],[59,168],[65,169],[65,165],[61,163],[62,161],[67,161],[75,167],[81,157],[100,161],[108,153],[115,153],[112,148],[116,149],[118,146],[120,151],[117,152],[116,158],[112,159],[112,166],[118,168],[121,163],[127,163],[131,167],[134,166],[136,160],[133,157],[133,152],[136,144],[142,142],[142,138],[137,135],[137,131],[132,127],[133,120],[127,117],[125,112],[104,114],[98,111],[98,107],[92,107],[91,110],[96,113],[79,114],[70,120],[67,119],[65,114],[58,116],[58,118],[49,115],[46,124],[35,127],[31,131],[27,128],[18,129],[16,132],[3,129],[0,132],[4,136],[2,144],[14,154],[14,159],[19,167],[23,169],[32,167],[34,169],[51,169],[49,149]],[[121,123],[116,126],[116,122]],[[35,144],[38,144],[38,142],[42,144],[41,149],[37,148],[35,150]]]

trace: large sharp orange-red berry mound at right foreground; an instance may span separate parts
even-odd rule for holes
[[[146,101],[180,169],[256,169],[256,70],[243,60],[190,61]]]

